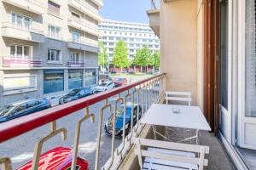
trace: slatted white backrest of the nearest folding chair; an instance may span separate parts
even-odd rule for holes
[[[135,139],[135,144],[137,145],[135,149],[135,154],[138,156],[138,161],[141,169],[143,168],[143,157],[151,157],[155,159],[165,160],[165,161],[177,161],[182,163],[189,163],[197,165],[199,170],[202,170],[204,166],[208,165],[208,160],[205,159],[205,154],[209,153],[209,147],[203,145],[195,144],[181,144],[166,142],[153,139]],[[142,146],[156,147],[159,149],[166,150],[179,150],[191,153],[198,153],[196,157],[188,156],[178,156],[170,155],[163,152],[153,151],[153,150],[142,150]]]

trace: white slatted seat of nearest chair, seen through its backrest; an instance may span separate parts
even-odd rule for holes
[[[159,148],[152,148],[152,147],[148,147],[148,151],[160,152],[163,154],[169,154],[173,156],[195,157],[195,153],[185,152],[185,151],[166,150],[166,149],[159,149]],[[143,169],[197,170],[198,167],[195,164],[183,163],[178,161],[166,161],[166,160],[156,159],[152,157],[145,157],[145,160],[143,162]]]

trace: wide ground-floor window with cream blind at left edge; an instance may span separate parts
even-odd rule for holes
[[[37,76],[35,75],[10,75],[3,77],[3,94],[18,94],[37,88]]]

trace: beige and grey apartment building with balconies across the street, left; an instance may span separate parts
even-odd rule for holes
[[[0,107],[97,83],[102,0],[1,0]]]

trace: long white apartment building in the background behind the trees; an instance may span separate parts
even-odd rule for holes
[[[101,32],[100,41],[107,48],[110,63],[113,61],[113,51],[119,40],[127,43],[130,59],[134,58],[137,49],[143,48],[143,46],[148,46],[151,53],[160,50],[159,38],[147,24],[103,20],[99,24],[99,30]]]

